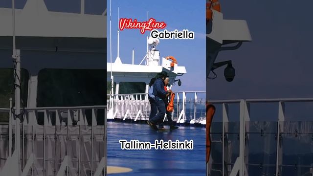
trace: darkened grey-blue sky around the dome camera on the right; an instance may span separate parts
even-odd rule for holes
[[[219,53],[216,62],[232,60],[236,76],[226,82],[224,67],[216,69],[218,77],[206,83],[207,98],[312,98],[313,1],[301,1],[301,9],[292,0],[270,5],[261,0],[229,0],[221,1],[221,6],[224,19],[246,20],[252,42]],[[271,107],[258,113],[278,112],[276,103]],[[286,120],[312,120],[312,107],[313,103],[290,103]],[[277,120],[277,115],[260,113],[258,117]]]

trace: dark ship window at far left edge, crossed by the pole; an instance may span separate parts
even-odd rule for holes
[[[21,107],[27,106],[27,90],[28,90],[28,71],[21,69],[22,91]],[[0,108],[10,108],[9,99],[12,98],[12,103],[15,102],[14,76],[12,68],[0,68]],[[8,122],[9,114],[0,112],[0,122]]]

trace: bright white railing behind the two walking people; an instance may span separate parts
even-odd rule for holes
[[[179,91],[174,100],[174,111],[172,118],[178,123],[189,122],[191,124],[201,123],[205,125],[205,99],[198,98],[199,94],[204,94],[205,91]],[[191,96],[192,98],[187,98]],[[111,115],[108,119],[131,119],[148,120],[151,111],[148,94],[114,94],[107,99],[107,104],[111,105],[108,108],[108,114],[111,110]],[[205,97],[205,94],[204,96]],[[112,101],[113,107],[112,107]],[[113,111],[113,112],[112,112]],[[166,118],[164,118],[165,120]]]

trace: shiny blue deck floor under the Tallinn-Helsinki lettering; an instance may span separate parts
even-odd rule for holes
[[[165,128],[169,128],[165,126]],[[133,169],[112,176],[204,176],[205,128],[180,126],[170,132],[156,132],[148,124],[108,122],[108,166]],[[154,142],[156,139],[193,140],[193,150],[121,150],[120,139]]]

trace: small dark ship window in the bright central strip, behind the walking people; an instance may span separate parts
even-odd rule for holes
[[[145,93],[146,83],[120,82],[119,94]]]

